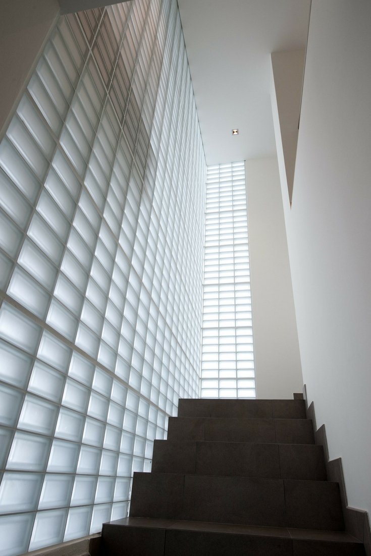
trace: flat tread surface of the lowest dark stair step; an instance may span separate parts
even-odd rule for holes
[[[229,533],[253,535],[258,537],[276,537],[295,540],[319,540],[362,544],[345,531],[324,531],[319,529],[293,529],[286,527],[261,527],[256,525],[237,525],[233,523],[196,522],[179,519],[128,517],[109,522],[117,527],[146,527],[153,529],[177,529],[208,533]]]

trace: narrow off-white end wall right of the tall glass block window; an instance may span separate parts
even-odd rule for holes
[[[256,396],[292,399],[303,378],[278,162],[259,158],[245,168]]]

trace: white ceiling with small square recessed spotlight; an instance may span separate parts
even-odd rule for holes
[[[305,47],[310,0],[178,3],[206,163],[275,156],[270,53]]]

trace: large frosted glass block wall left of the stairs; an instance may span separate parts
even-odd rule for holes
[[[0,546],[125,517],[199,396],[205,158],[176,0],[62,17],[0,145]]]

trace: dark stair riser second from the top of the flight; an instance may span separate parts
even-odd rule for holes
[[[313,425],[309,419],[169,417],[167,439],[178,442],[206,440],[214,442],[314,444]]]

